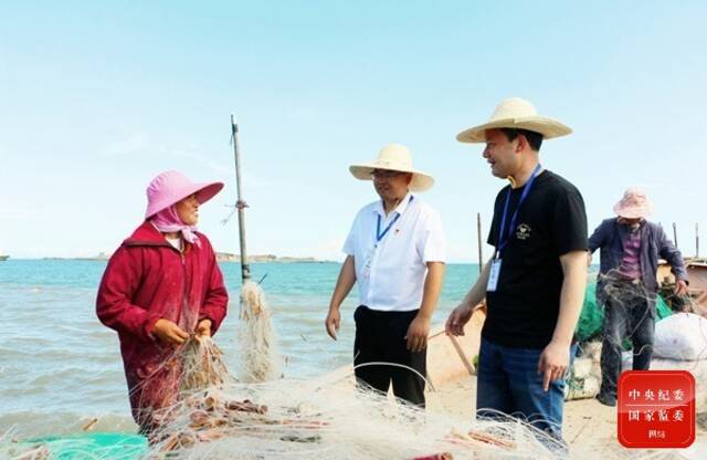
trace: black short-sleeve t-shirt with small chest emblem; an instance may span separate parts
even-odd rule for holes
[[[496,197],[489,244],[498,244],[506,194],[511,190],[508,234],[524,189],[507,186]],[[486,293],[488,316],[482,334],[500,346],[545,348],[560,309],[560,255],[587,249],[587,213],[577,187],[549,170],[542,171],[520,207],[507,241],[499,254],[503,262],[496,291]]]

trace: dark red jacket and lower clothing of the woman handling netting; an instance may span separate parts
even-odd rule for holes
[[[173,348],[151,335],[157,320],[192,333],[209,318],[213,335],[226,313],[229,295],[215,253],[207,237],[197,234],[200,244],[180,253],[145,221],[113,254],[98,289],[96,314],[118,332],[133,417],[143,428],[151,425],[154,409],[175,402],[179,389],[181,369],[169,359]]]

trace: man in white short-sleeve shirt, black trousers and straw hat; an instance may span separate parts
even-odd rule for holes
[[[424,407],[428,335],[442,289],[446,242],[439,213],[412,192],[430,189],[434,179],[413,169],[410,150],[398,144],[349,170],[357,179],[372,180],[381,199],[358,212],[346,239],[327,333],[336,339],[339,307],[358,281],[357,380],[383,393],[392,381],[397,397]]]

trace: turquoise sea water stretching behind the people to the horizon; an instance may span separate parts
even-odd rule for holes
[[[98,418],[96,430],[133,430],[116,333],[95,316],[103,261],[8,260],[0,262],[0,433],[66,433]],[[231,369],[240,264],[222,263],[231,294],[231,313],[214,337]],[[338,263],[256,263],[254,280],[273,311],[285,355],[284,373],[307,378],[351,360],[356,288],[342,306],[337,342],[324,318]],[[434,324],[446,318],[475,281],[478,266],[451,264]]]

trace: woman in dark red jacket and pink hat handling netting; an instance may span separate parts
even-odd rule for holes
[[[215,253],[196,231],[199,205],[222,188],[177,171],[157,176],[147,188],[145,221],[101,281],[96,313],[118,332],[133,417],[146,435],[159,425],[155,411],[177,401],[181,363],[170,358],[190,335],[213,335],[226,313]]]

